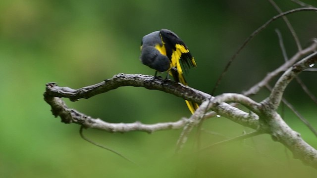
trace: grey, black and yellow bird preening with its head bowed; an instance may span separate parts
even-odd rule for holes
[[[141,62],[158,72],[167,72],[175,82],[188,86],[184,72],[196,67],[196,62],[185,43],[172,31],[161,29],[142,38]],[[189,111],[193,114],[199,105],[185,100]]]

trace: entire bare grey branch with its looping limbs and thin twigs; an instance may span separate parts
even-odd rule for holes
[[[273,5],[275,4],[274,1],[270,1],[273,2]],[[275,7],[278,11],[280,11],[276,4]],[[284,16],[287,14],[299,11],[317,11],[317,8],[297,8],[286,12],[282,12],[272,17],[270,20],[264,23],[264,25],[262,25],[256,31],[254,31],[240,46],[240,48],[238,48],[237,52],[229,60],[228,64],[225,66],[223,73],[219,77],[215,85],[215,88],[212,90],[212,93],[214,93],[221,78],[228,70],[228,67],[230,66],[231,62],[236,58],[236,56],[244,48],[245,45],[247,45],[257,34],[259,34],[264,28],[266,28],[267,25],[270,24],[272,21],[280,17],[284,18]],[[289,24],[287,19],[285,21]],[[291,28],[291,26],[289,28],[290,31],[293,33],[294,30]],[[279,33],[278,35],[280,44],[283,44],[282,38]],[[299,51],[290,60],[286,61],[275,71],[269,73],[256,86],[244,92],[244,95],[236,93],[224,93],[213,97],[210,94],[199,91],[197,89],[192,89],[188,86],[184,86],[169,80],[161,80],[160,78],[155,78],[153,76],[146,76],[141,74],[118,74],[113,76],[111,79],[107,79],[101,83],[80,89],[58,87],[56,83],[49,83],[46,85],[44,99],[52,107],[53,115],[55,117],[59,116],[63,123],[76,123],[81,125],[80,134],[84,139],[93,144],[96,144],[97,146],[112,151],[113,153],[121,157],[123,156],[118,152],[87,139],[82,134],[83,128],[98,129],[110,133],[125,133],[131,131],[153,133],[156,131],[183,128],[183,131],[177,141],[176,152],[179,152],[184,146],[188,138],[188,135],[192,132],[193,128],[200,123],[200,121],[202,121],[205,118],[214,116],[215,114],[219,114],[223,117],[230,119],[235,123],[252,128],[256,131],[250,134],[241,135],[236,138],[215,143],[214,145],[244,139],[247,137],[255,136],[257,134],[270,134],[273,140],[278,141],[284,144],[287,148],[289,148],[294,154],[295,158],[299,158],[304,163],[317,169],[317,150],[310,146],[308,143],[306,143],[301,138],[299,133],[293,131],[283,121],[281,116],[276,112],[276,109],[278,108],[278,106],[280,105],[280,101],[282,100],[283,92],[290,83],[290,81],[294,79],[300,72],[304,71],[307,67],[309,67],[310,64],[315,63],[317,61],[317,40],[315,40],[314,43],[309,47],[302,49],[295,32],[293,36],[297,43]],[[285,51],[283,45],[281,45],[281,48]],[[308,54],[310,55],[300,60],[303,55]],[[287,59],[286,52],[284,54],[284,58]],[[251,98],[247,97],[247,95],[256,93],[265,85],[268,85],[268,82],[272,78],[274,78],[282,72],[284,72],[284,74],[276,82],[271,94],[264,101],[258,103],[252,100]],[[68,108],[65,102],[62,100],[62,97],[69,98],[71,101],[76,101],[81,98],[90,98],[97,94],[104,93],[109,90],[117,89],[119,87],[124,86],[143,87],[146,89],[161,90],[166,93],[170,93],[175,96],[181,97],[183,99],[202,104],[189,119],[182,118],[176,122],[142,124],[140,122],[107,123],[101,119],[94,119],[74,109]],[[238,107],[235,107],[238,104],[245,106],[247,109],[249,109],[249,112],[245,112],[239,109]]]

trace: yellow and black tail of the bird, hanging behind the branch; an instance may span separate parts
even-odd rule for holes
[[[179,63],[178,63],[179,64]],[[172,76],[175,80],[175,82],[179,82],[183,85],[187,85],[187,82],[185,81],[185,78],[184,78],[184,75],[183,75],[183,71],[182,71],[182,68],[181,66],[176,66],[177,68],[173,67],[170,71],[172,73]],[[192,101],[188,101],[188,100],[185,100],[186,104],[187,104],[187,107],[189,109],[189,111],[194,114],[194,112],[196,111],[196,109],[199,107],[199,105],[197,103],[194,103]]]

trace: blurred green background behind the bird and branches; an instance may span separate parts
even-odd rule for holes
[[[304,0],[317,6],[316,0]],[[276,0],[282,10],[299,7]],[[0,1],[0,177],[1,178],[316,178],[316,170],[293,159],[268,135],[195,151],[195,132],[185,153],[175,157],[181,131],[153,134],[109,134],[85,130],[85,135],[136,162],[83,140],[78,125],[54,118],[43,100],[45,84],[80,88],[118,73],[153,75],[139,61],[144,35],[166,28],[180,36],[198,67],[186,76],[191,87],[211,92],[226,62],[244,40],[276,10],[267,0],[1,0]],[[317,13],[289,15],[301,44],[317,37]],[[274,30],[284,39],[288,56],[294,40],[279,19],[269,25],[233,62],[216,94],[241,92],[283,63]],[[316,93],[316,74],[301,78]],[[273,84],[273,83],[272,83]],[[261,91],[261,101],[268,92]],[[317,128],[316,105],[293,82],[285,97]],[[77,102],[75,108],[107,122],[157,123],[189,117],[185,102],[173,95],[125,87]],[[316,136],[287,108],[286,122],[317,147]],[[282,112],[283,111],[283,112]],[[250,129],[226,118],[203,126],[202,146]],[[216,134],[214,134],[216,133]]]

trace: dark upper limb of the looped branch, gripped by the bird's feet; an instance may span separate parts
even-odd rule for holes
[[[206,98],[211,97],[210,94],[204,93],[197,89],[192,89],[180,83],[141,74],[117,74],[111,79],[106,79],[104,82],[80,89],[58,87],[56,83],[49,83],[47,84],[45,95],[54,97],[67,97],[71,101],[76,101],[80,98],[88,99],[97,94],[105,93],[109,90],[126,86],[161,90],[195,103],[202,103]]]

